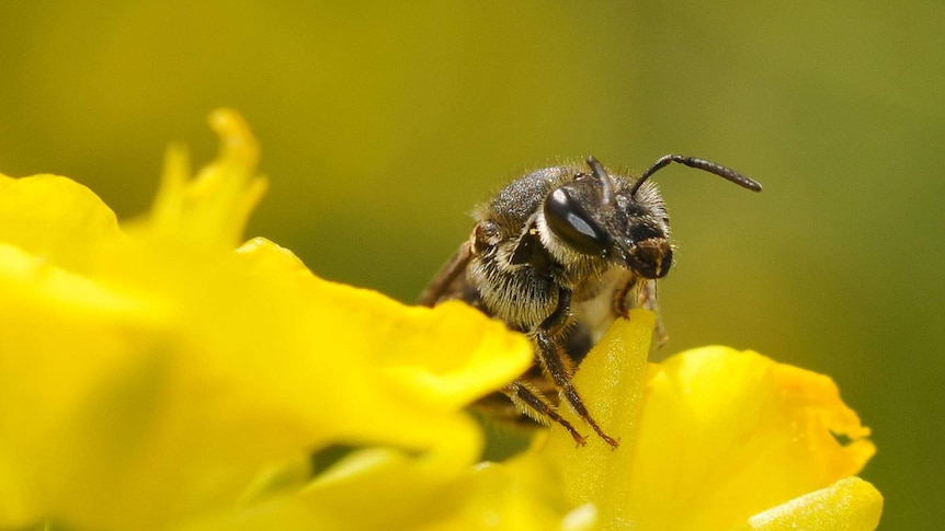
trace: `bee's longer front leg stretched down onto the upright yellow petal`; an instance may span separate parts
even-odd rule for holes
[[[581,417],[582,420],[611,446],[616,449],[619,441],[604,434],[604,430],[597,426],[594,417],[588,412],[584,401],[574,389],[574,383],[571,380],[573,370],[570,366],[568,355],[561,348],[561,345],[556,340],[556,336],[560,333],[570,314],[571,291],[561,289],[558,296],[558,308],[538,326],[535,332],[535,342],[538,346],[538,360],[558,388],[558,392],[571,409]]]

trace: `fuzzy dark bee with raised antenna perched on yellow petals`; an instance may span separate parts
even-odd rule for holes
[[[565,403],[607,445],[619,445],[572,379],[615,319],[635,307],[657,310],[656,281],[673,264],[673,243],[665,204],[649,178],[673,162],[761,192],[735,170],[679,154],[659,158],[638,178],[611,175],[593,157],[587,168],[537,170],[474,211],[469,239],[421,293],[421,304],[459,299],[527,334],[534,365],[501,389],[513,416],[558,424],[583,446],[587,438],[559,414]]]

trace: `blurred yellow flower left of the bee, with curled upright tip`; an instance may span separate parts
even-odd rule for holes
[[[332,445],[396,454],[423,482],[403,490],[432,495],[480,452],[462,409],[530,365],[524,337],[462,304],[237,250],[264,181],[241,119],[212,125],[220,158],[190,180],[172,150],[124,229],[65,177],[0,176],[0,528],[185,526],[296,485]]]

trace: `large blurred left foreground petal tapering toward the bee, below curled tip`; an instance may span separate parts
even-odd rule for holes
[[[100,284],[46,265],[4,286],[0,411],[19,413],[1,415],[0,471],[22,493],[0,501],[4,522],[159,527],[337,441],[439,448],[458,470],[480,443],[462,400],[531,362],[527,340],[470,308],[407,308],[258,267],[259,251],[121,249]],[[403,373],[462,388],[408,392]]]

